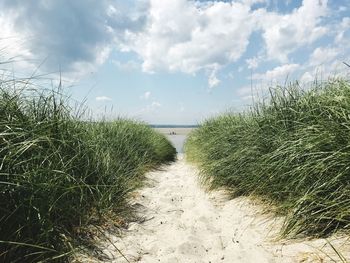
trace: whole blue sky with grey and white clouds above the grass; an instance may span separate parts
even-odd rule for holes
[[[94,118],[198,124],[343,62],[349,0],[0,1],[2,68],[61,76]]]

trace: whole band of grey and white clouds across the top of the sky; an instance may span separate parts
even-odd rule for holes
[[[147,73],[205,72],[208,86],[218,86],[217,73],[238,62],[253,33],[262,39],[259,54],[246,59],[257,69],[265,61],[280,64],[256,78],[276,78],[295,70],[290,55],[331,34],[325,19],[328,0],[303,0],[279,13],[267,0],[3,0],[0,2],[0,47],[11,55],[42,62],[64,72],[94,71],[113,49],[137,59],[114,61],[118,69]],[[179,15],[181,14],[181,15]],[[335,24],[334,45],[316,48],[310,65],[338,57],[349,37],[350,18]],[[338,52],[338,53],[337,53]],[[347,52],[343,52],[344,54]],[[140,61],[140,62],[138,62]],[[142,65],[139,65],[141,63]]]

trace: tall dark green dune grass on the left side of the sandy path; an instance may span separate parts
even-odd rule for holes
[[[0,80],[0,261],[66,261],[176,152],[145,124],[81,121],[60,93],[22,84]]]

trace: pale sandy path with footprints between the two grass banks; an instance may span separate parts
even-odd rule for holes
[[[324,239],[277,239],[281,218],[263,213],[249,198],[206,193],[197,178],[182,157],[149,173],[149,183],[132,200],[144,220],[131,223],[121,236],[106,232],[109,241],[99,241],[104,258],[81,262],[341,262]],[[346,237],[329,241],[350,259]]]

